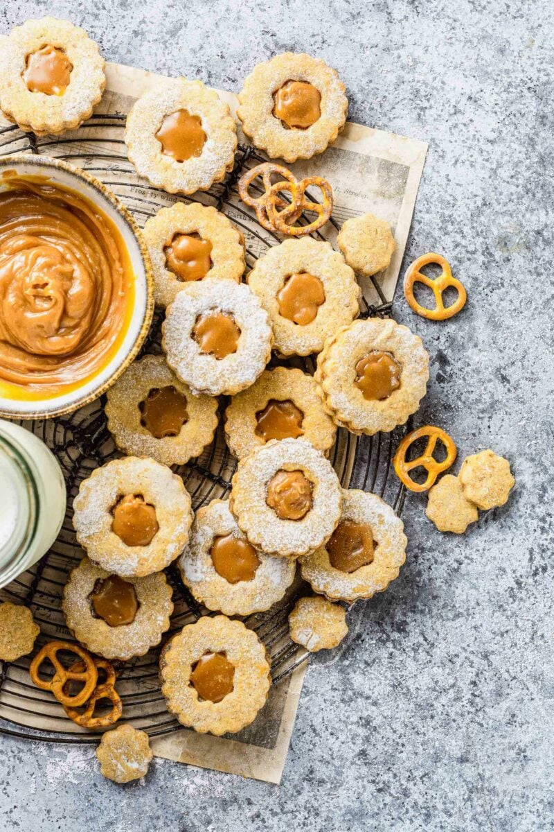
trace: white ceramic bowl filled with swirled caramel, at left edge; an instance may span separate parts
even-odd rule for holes
[[[0,416],[49,418],[97,399],[154,311],[135,220],[86,171],[0,158]]]

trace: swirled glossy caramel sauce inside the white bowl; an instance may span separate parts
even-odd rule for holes
[[[7,171],[0,184],[0,395],[50,399],[114,358],[135,275],[119,230],[91,201],[42,176]]]

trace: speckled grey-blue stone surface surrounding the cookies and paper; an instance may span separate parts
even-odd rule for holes
[[[463,537],[409,498],[407,562],[346,650],[311,662],[281,786],[155,760],[118,787],[93,750],[1,737],[0,828],[554,828],[552,3],[4,0],[0,32],[46,13],[110,60],[235,91],[275,52],[312,52],[351,119],[429,141],[405,262],[443,252],[469,300],[434,324],[396,297],[431,354],[418,423],[460,458],[505,454],[517,490]]]

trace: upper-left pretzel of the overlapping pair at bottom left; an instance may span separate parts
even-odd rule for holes
[[[67,670],[57,657],[58,652],[62,650],[79,656],[84,665],[83,670],[74,670],[73,667]],[[48,680],[41,679],[38,675],[38,671],[45,659],[51,661],[56,671],[54,676]],[[78,644],[71,644],[69,641],[49,641],[48,644],[45,644],[42,650],[39,650],[37,656],[32,660],[29,673],[33,685],[40,687],[42,691],[51,691],[56,696],[57,701],[61,702],[61,705],[64,707],[84,705],[91,697],[92,692],[96,688],[96,682],[98,681],[98,671],[96,671],[96,665],[92,656]],[[66,682],[70,679],[85,682],[85,686],[75,696],[67,695],[63,689]]]

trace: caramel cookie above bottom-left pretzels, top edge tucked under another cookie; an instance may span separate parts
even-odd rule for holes
[[[164,572],[130,577],[106,572],[88,557],[71,570],[61,608],[77,641],[97,656],[144,656],[169,630],[173,612]]]

